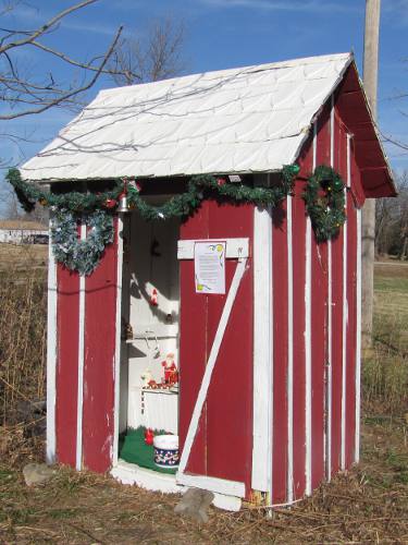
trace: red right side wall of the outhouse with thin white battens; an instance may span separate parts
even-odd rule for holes
[[[314,143],[313,134],[311,134],[299,155],[297,162],[300,166],[300,172],[292,197],[292,237],[287,233],[286,204],[283,206],[283,214],[276,210],[273,217],[273,504],[301,498],[319,486],[322,481],[342,468],[342,451],[345,468],[349,468],[355,461],[357,208],[363,203],[363,190],[354,156],[353,138],[349,148],[350,187],[346,194],[346,251],[344,253],[343,229],[339,235],[331,241],[330,251],[327,243],[318,244],[313,233],[311,234],[310,307],[307,306],[309,303],[306,303],[307,215],[301,197],[306,178],[313,170],[313,166],[333,165],[343,180],[347,181],[347,128],[342,121],[344,114],[342,108],[337,106],[336,97],[333,112],[331,101],[324,106],[316,122]],[[293,252],[292,265],[287,261],[288,240]],[[344,286],[343,275],[345,258],[347,259],[346,286]],[[293,274],[292,339],[288,331],[288,315],[290,315],[288,267],[290,266]],[[331,268],[331,282],[329,268]],[[329,307],[330,291],[331,307]],[[347,299],[346,304],[344,298]],[[308,312],[311,324],[310,347],[307,346],[306,335]],[[329,336],[329,313],[331,313],[331,337]],[[345,346],[343,346],[344,323]],[[288,376],[288,346],[290,343],[293,348],[292,378]],[[307,350],[310,350],[311,355],[310,391],[307,391]],[[330,353],[332,354],[331,361],[329,360]],[[344,356],[345,368],[343,367]],[[344,390],[343,384],[345,384]],[[292,422],[288,417],[290,414],[288,388],[290,387]],[[307,407],[308,399],[310,399],[309,407]],[[308,417],[309,422],[307,422]],[[289,426],[293,434],[292,441]]]

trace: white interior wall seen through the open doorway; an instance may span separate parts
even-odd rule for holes
[[[124,263],[124,269],[127,268],[124,298],[129,307],[124,315],[128,316],[136,339],[125,343],[127,356],[123,361],[126,370],[123,370],[121,380],[121,397],[127,400],[127,403],[121,403],[121,410],[126,414],[127,427],[153,422],[152,427],[177,433],[178,396],[143,392],[141,375],[149,371],[160,383],[163,376],[161,362],[169,352],[174,353],[178,366],[178,220],[146,222],[137,214],[129,216],[128,263]],[[150,304],[153,289],[158,291],[157,306]],[[120,421],[124,423],[123,414]]]

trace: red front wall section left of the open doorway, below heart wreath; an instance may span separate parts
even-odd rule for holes
[[[82,417],[82,468],[107,471],[112,463],[116,243],[85,278],[85,313],[79,313],[79,275],[58,265],[55,450],[75,467]],[[78,403],[79,324],[84,320],[83,399]]]

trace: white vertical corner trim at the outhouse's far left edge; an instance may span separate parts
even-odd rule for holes
[[[48,246],[48,312],[47,312],[47,463],[55,462],[55,396],[57,396],[57,263],[51,243],[52,216]]]

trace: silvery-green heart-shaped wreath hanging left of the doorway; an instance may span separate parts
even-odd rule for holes
[[[78,237],[78,223],[70,210],[55,210],[51,221],[52,251],[55,259],[70,270],[90,275],[97,267],[104,247],[113,242],[113,218],[103,210],[84,215],[89,228],[86,239]]]

